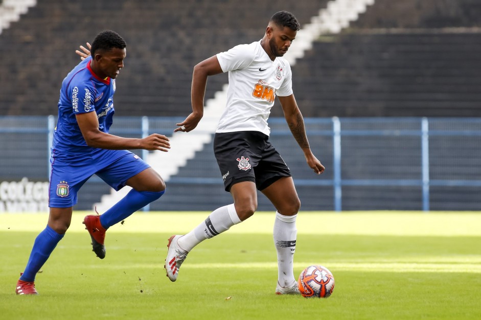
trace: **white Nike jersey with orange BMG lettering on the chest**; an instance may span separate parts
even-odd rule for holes
[[[267,118],[276,94],[292,94],[292,72],[286,59],[270,60],[260,41],[240,44],[217,54],[229,71],[227,105],[216,132],[260,131],[267,136]]]

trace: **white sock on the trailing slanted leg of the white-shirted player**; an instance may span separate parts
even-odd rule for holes
[[[180,248],[189,252],[205,239],[210,239],[240,223],[234,204],[214,210],[200,225],[177,240]]]

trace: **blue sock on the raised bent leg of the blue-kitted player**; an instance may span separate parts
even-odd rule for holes
[[[149,203],[161,198],[165,192],[152,192],[152,191],[137,191],[132,189],[127,193],[124,198],[113,205],[110,209],[100,215],[100,224],[105,229],[119,223],[126,217],[130,216],[135,211],[142,209]]]

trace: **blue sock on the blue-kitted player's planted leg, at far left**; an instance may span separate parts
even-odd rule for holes
[[[21,275],[22,281],[35,281],[35,275],[42,265],[49,259],[50,254],[57,247],[57,243],[63,238],[63,234],[58,234],[52,228],[47,226],[40,232],[33,243],[32,252],[30,253],[29,262],[25,268],[24,274]]]

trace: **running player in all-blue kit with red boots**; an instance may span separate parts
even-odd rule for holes
[[[126,57],[124,39],[113,31],[103,31],[90,49],[91,56],[83,59],[62,82],[50,160],[49,220],[35,239],[16,285],[17,294],[38,294],[35,275],[70,226],[77,192],[91,176],[99,176],[116,190],[126,185],[132,187],[105,213],[87,215],[83,220],[93,251],[100,259],[105,257],[105,231],[165,192],[162,177],[127,150],[166,152],[169,139],[156,133],[142,139],[108,133],[114,114],[115,80]]]

